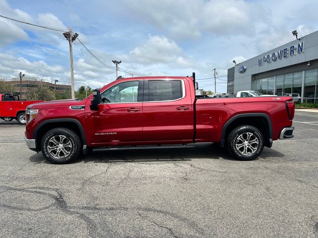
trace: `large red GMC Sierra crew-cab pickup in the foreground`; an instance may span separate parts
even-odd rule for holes
[[[292,98],[196,98],[192,77],[115,80],[80,100],[26,109],[25,141],[56,164],[93,148],[219,143],[239,160],[293,137]]]

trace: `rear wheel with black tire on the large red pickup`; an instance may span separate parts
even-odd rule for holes
[[[251,125],[241,125],[228,136],[227,147],[238,160],[253,160],[264,148],[264,137],[259,129]]]

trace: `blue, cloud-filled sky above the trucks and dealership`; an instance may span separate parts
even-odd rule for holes
[[[0,15],[78,33],[75,89],[123,77],[187,76],[227,91],[228,68],[318,30],[318,0],[0,0]],[[69,44],[53,31],[0,17],[0,78],[71,84]],[[80,42],[98,59],[94,58]],[[101,61],[101,62],[100,62]]]

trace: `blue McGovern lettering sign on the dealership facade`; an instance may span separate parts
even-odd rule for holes
[[[280,51],[274,52],[271,55],[263,56],[258,59],[258,66],[263,65],[263,63],[275,62],[276,60],[281,60],[294,56],[296,54],[302,54],[304,52],[304,42],[298,43],[297,46],[291,46],[289,48],[282,49]]]

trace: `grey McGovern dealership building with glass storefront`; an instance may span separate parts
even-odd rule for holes
[[[228,92],[293,93],[302,103],[318,103],[317,69],[318,31],[229,68]]]

